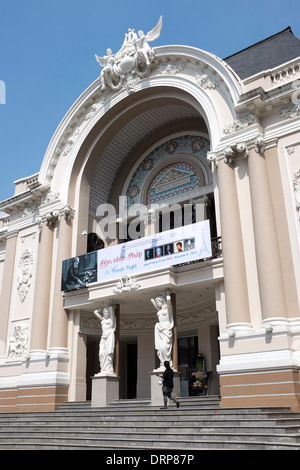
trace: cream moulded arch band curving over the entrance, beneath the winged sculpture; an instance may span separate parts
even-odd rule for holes
[[[71,175],[73,170],[78,171],[82,154],[91,155],[104,134],[112,137],[114,126],[123,128],[130,113],[134,119],[149,106],[153,108],[155,97],[179,99],[192,106],[206,123],[211,150],[218,149],[224,126],[236,118],[235,106],[244,91],[243,84],[224,61],[200,49],[164,46],[156,48],[155,53],[151,75],[141,80],[135,93],[103,93],[95,80],[77,99],[48,146],[39,174],[42,186],[59,191],[67,202]],[[108,145],[107,139],[103,144]],[[59,176],[62,174],[63,178]]]

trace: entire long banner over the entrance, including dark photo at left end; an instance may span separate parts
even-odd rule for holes
[[[117,280],[211,256],[209,221],[204,220],[64,260],[61,290],[80,289],[91,282]]]

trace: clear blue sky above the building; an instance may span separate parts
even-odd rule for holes
[[[147,32],[160,15],[153,47],[225,58],[287,26],[300,38],[299,0],[0,0],[0,201],[39,171],[61,119],[100,73],[95,54],[116,52],[128,28]]]

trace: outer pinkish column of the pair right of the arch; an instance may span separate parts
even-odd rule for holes
[[[248,169],[262,317],[285,317],[277,229],[264,155],[251,149]]]

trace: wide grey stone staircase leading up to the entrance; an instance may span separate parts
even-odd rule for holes
[[[221,409],[217,397],[180,408],[117,400],[106,408],[68,402],[54,412],[1,413],[0,450],[300,450],[300,413]]]

